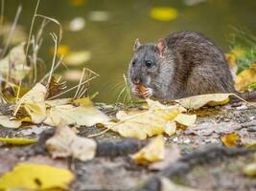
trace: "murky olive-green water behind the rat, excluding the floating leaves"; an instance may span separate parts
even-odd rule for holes
[[[80,1],[76,1],[80,2]],[[82,0],[81,0],[82,2]],[[90,92],[100,92],[97,101],[112,102],[124,84],[135,38],[142,42],[155,41],[170,32],[197,31],[214,39],[223,50],[228,49],[228,36],[233,27],[245,27],[256,33],[255,0],[208,0],[198,5],[187,6],[185,0],[87,0],[80,6],[69,0],[41,0],[38,12],[54,17],[63,25],[62,44],[72,51],[86,50],[91,59],[82,67],[88,67],[100,77],[91,84]],[[74,3],[74,2],[73,2]],[[22,5],[19,23],[29,31],[35,0],[7,0],[5,15],[12,20],[17,5]],[[179,15],[175,20],[153,20],[149,12],[153,7],[173,7]],[[102,22],[89,19],[91,11],[106,11],[108,19]],[[79,32],[70,32],[65,26],[75,17],[85,19],[85,27]],[[51,63],[49,47],[53,46],[47,28],[41,57]],[[74,67],[71,67],[74,68]],[[75,67],[76,68],[76,67]],[[74,85],[70,83],[70,85]]]

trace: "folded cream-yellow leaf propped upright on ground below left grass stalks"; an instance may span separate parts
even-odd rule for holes
[[[22,96],[15,105],[15,111],[23,107],[35,124],[42,122],[46,118],[46,87],[36,83],[35,87]]]

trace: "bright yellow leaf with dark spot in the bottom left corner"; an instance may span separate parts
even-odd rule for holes
[[[74,175],[61,168],[43,164],[19,163],[0,178],[0,190],[67,189]]]

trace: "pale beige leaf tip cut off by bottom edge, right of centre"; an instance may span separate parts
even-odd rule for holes
[[[175,184],[172,180],[161,178],[161,191],[199,191],[198,189]]]

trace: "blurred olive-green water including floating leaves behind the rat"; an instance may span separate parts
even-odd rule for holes
[[[17,7],[22,11],[19,31],[12,43],[29,33],[36,0],[5,1],[5,26],[11,25]],[[233,46],[234,33],[256,34],[255,0],[41,0],[37,13],[58,20],[63,29],[58,54],[66,56],[66,66],[57,74],[78,83],[83,67],[100,74],[90,84],[90,93],[99,92],[96,101],[114,102],[125,85],[136,38],[154,42],[171,32],[197,31],[213,39],[223,51]],[[35,29],[41,20],[35,20]],[[54,42],[49,32],[58,25],[48,24],[39,56],[49,70]],[[26,39],[26,38],[25,38]],[[45,73],[45,72],[42,72]]]

